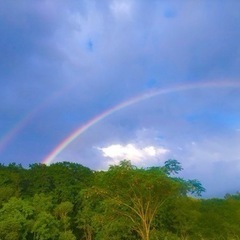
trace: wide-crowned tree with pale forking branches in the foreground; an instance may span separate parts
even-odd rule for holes
[[[139,237],[149,240],[158,210],[169,198],[179,194],[179,190],[179,183],[162,168],[139,169],[125,160],[101,174],[85,197],[103,196],[106,209],[130,220]]]

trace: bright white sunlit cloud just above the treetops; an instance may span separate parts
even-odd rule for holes
[[[141,148],[134,144],[113,144],[98,149],[102,151],[104,157],[108,158],[108,164],[117,164],[123,159],[129,159],[134,165],[148,165],[169,152],[163,147],[146,146]]]

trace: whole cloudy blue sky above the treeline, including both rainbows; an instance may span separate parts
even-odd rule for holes
[[[240,191],[240,2],[0,0],[0,162],[181,162]]]

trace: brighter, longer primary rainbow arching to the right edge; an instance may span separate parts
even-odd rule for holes
[[[240,83],[237,81],[225,80],[225,81],[210,81],[210,82],[201,82],[201,83],[193,83],[193,84],[185,84],[185,85],[177,85],[169,88],[163,89],[155,89],[141,95],[137,95],[133,98],[130,98],[124,102],[121,102],[112,108],[105,110],[101,114],[95,116],[90,119],[85,124],[81,125],[75,131],[73,131],[67,138],[65,138],[53,151],[42,161],[43,164],[49,165],[51,164],[56,156],[60,154],[71,142],[73,142],[77,137],[79,137],[82,133],[87,131],[90,127],[102,121],[106,117],[111,114],[126,108],[130,105],[138,103],[140,101],[144,101],[146,99],[175,92],[194,90],[194,89],[202,89],[202,88],[223,88],[223,87],[240,87]]]

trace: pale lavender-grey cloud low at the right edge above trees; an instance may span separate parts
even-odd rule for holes
[[[227,139],[227,140],[226,140]],[[236,131],[228,134],[202,136],[197,141],[181,141],[180,149],[171,146],[174,157],[182,163],[184,178],[197,178],[206,188],[205,197],[223,196],[226,192],[239,190],[240,135]]]

